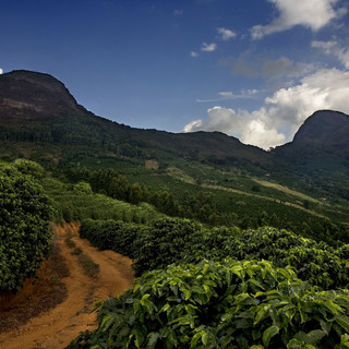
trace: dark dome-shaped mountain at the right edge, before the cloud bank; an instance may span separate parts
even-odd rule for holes
[[[273,154],[298,178],[349,200],[349,116],[316,111]]]

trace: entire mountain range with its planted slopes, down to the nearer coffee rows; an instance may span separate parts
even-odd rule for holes
[[[320,111],[293,142],[265,152],[219,132],[130,128],[87,111],[53,76],[0,75],[0,158],[29,158],[97,192],[209,224],[313,236],[327,218],[348,221],[347,119]]]

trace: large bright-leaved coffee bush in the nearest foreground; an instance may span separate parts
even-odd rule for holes
[[[345,348],[348,291],[317,292],[266,261],[169,266],[98,305],[69,348]]]

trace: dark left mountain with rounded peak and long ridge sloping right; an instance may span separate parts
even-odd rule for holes
[[[219,132],[169,133],[129,128],[77,105],[48,74],[13,71],[0,75],[0,139],[84,146],[99,153],[153,158],[188,156],[220,164],[266,166],[267,154]],[[159,154],[161,153],[161,155]]]

